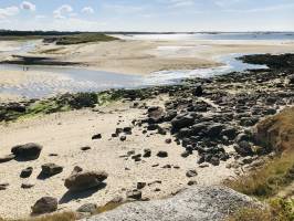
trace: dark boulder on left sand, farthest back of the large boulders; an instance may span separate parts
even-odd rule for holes
[[[17,159],[34,160],[39,158],[42,148],[43,147],[41,145],[30,143],[12,147],[11,152],[15,156]]]

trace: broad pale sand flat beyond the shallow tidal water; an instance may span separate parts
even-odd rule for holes
[[[161,70],[220,65],[216,56],[230,53],[294,52],[294,42],[120,40],[67,46],[39,45],[34,53],[44,55],[44,52],[60,61],[84,63],[88,69],[146,75]]]

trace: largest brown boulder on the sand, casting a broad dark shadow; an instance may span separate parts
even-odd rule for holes
[[[65,179],[64,186],[70,191],[83,191],[98,187],[107,177],[105,171],[83,171],[81,167],[75,167],[72,175]]]

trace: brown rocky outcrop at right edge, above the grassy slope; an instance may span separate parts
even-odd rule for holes
[[[256,126],[255,139],[269,151],[294,148],[294,107],[269,117]]]

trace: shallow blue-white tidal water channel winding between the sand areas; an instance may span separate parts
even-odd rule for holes
[[[64,92],[96,92],[109,88],[139,88],[155,85],[170,85],[188,77],[211,77],[250,69],[266,69],[264,65],[245,64],[242,61],[235,60],[235,57],[241,55],[243,54],[230,54],[216,57],[223,65],[213,69],[161,71],[148,76],[126,75],[73,66],[30,65],[28,71],[23,71],[22,65],[0,64],[0,71],[23,71],[24,74],[33,71],[54,74],[56,76],[51,81],[30,81],[19,86],[0,85],[0,93],[19,95],[27,98],[41,98]]]

